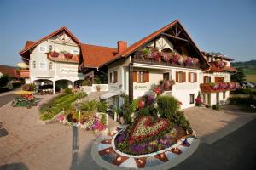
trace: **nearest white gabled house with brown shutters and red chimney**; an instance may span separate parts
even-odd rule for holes
[[[178,57],[180,60],[175,61]],[[230,71],[236,70],[230,68],[229,60],[222,57],[220,60],[225,60],[225,67],[214,71],[207,57],[209,55],[201,53],[178,20],[130,47],[127,47],[127,42],[118,42],[118,54],[99,66],[108,70],[109,93],[102,99],[108,99],[110,105],[119,106],[123,102],[119,94],[129,94],[130,99],[137,99],[149,94],[152,85],[159,84],[161,80],[173,80],[175,85],[166,87],[164,94],[182,102],[182,108],[194,106],[199,92],[206,105],[217,104],[229,97],[229,90],[207,91],[201,89],[201,84],[209,86],[206,77],[210,77],[211,82],[230,82]],[[188,58],[197,63],[186,65],[184,60]]]

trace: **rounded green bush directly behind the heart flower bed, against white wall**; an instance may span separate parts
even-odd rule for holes
[[[157,100],[161,117],[172,118],[178,110],[177,99],[172,96],[160,96]]]

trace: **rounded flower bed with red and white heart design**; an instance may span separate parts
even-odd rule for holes
[[[183,127],[166,118],[141,116],[114,139],[116,150],[129,155],[144,155],[165,150],[186,136]]]

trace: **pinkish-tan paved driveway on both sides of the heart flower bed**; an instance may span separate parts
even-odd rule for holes
[[[43,96],[40,103],[44,103],[49,99],[50,96]],[[7,135],[0,135],[1,170],[102,169],[96,165],[90,156],[91,145],[98,138],[98,134],[76,127],[64,126],[57,122],[41,125],[38,123],[38,114],[38,107],[33,107],[32,109],[13,108],[8,103],[0,108],[0,122],[3,122],[3,128],[7,132]],[[211,138],[211,135],[214,136],[215,133],[222,131],[230,133],[233,130],[231,127],[240,127],[241,122],[246,123],[252,120],[252,114],[245,116],[241,114],[240,116],[204,108],[192,108],[185,110],[185,115],[189,117],[189,121],[202,141],[206,141],[208,145],[202,143],[198,152],[195,152],[195,158],[192,156],[192,161],[184,162],[184,168],[195,166],[194,163],[200,162],[195,161],[196,159],[209,160],[207,165],[215,166],[219,160],[215,159],[215,156],[219,156],[223,152],[218,152],[217,149],[225,150],[222,146],[230,147],[229,153],[233,154],[233,156],[241,156],[237,155],[237,152],[233,153],[231,151],[232,146],[238,146],[234,143],[230,143],[230,145],[228,142],[223,144],[214,143],[216,147],[211,145],[212,141],[217,141],[223,137],[223,135],[217,135],[218,138]],[[222,130],[226,129],[226,127],[229,127],[228,131]],[[250,129],[250,127],[248,128]],[[250,137],[248,138],[249,141]],[[238,140],[239,142],[241,140]],[[241,146],[249,147],[244,144]],[[216,155],[208,159],[207,156],[211,156],[212,150],[216,151]],[[201,158],[201,156],[204,157]]]

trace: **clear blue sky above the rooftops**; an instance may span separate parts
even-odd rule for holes
[[[61,26],[80,42],[116,48],[179,20],[198,48],[256,59],[256,0],[0,0],[0,64]]]

